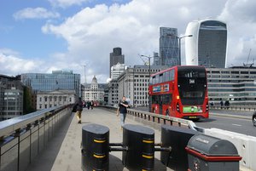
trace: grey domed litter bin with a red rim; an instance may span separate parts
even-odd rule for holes
[[[189,171],[239,171],[236,146],[228,140],[199,134],[193,136],[186,147],[189,157]]]

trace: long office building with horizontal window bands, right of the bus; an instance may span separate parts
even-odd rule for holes
[[[207,68],[209,102],[256,105],[256,67]]]

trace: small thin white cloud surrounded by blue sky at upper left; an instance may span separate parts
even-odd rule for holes
[[[48,11],[44,8],[26,8],[21,9],[20,11],[14,14],[15,20],[23,19],[49,19],[49,18],[58,18],[60,17],[59,13]]]

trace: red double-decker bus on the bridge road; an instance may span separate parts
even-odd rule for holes
[[[173,66],[150,77],[149,111],[186,119],[208,118],[204,66]]]

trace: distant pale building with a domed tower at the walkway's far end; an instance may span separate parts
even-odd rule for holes
[[[84,100],[104,101],[104,88],[99,87],[96,76],[92,78],[91,84],[84,88]]]

